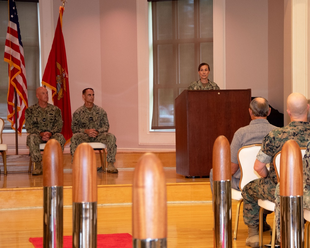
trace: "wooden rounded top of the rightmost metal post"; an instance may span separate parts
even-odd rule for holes
[[[288,140],[282,147],[280,157],[280,195],[303,195],[303,158],[299,145]]]

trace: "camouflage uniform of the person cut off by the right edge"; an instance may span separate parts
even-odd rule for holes
[[[310,142],[307,144],[305,156],[303,156],[303,208],[310,210]],[[280,241],[280,184],[276,187],[276,222],[277,222],[277,239]]]

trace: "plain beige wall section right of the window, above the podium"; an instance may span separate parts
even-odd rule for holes
[[[268,1],[226,1],[226,89],[268,98]]]

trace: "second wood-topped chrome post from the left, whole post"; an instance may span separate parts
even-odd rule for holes
[[[73,248],[97,247],[97,166],[93,148],[78,145],[73,157]]]

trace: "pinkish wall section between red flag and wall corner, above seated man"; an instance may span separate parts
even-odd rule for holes
[[[57,11],[59,2],[53,1],[53,4],[55,28],[59,16]],[[90,0],[87,6],[82,1],[65,3],[62,28],[67,53],[72,111],[84,104],[82,90],[87,87],[94,88],[95,103],[101,105],[102,46],[99,2]]]

